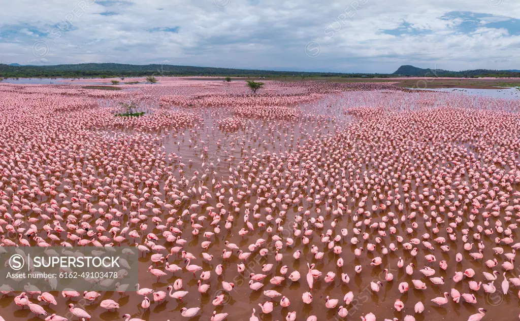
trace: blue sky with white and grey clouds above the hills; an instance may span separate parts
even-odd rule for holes
[[[520,69],[518,0],[0,0],[0,63]]]

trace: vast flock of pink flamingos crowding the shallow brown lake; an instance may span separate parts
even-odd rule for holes
[[[3,319],[519,317],[519,101],[121,87],[0,84],[0,248],[141,256],[113,292],[1,287]],[[146,114],[114,116],[128,100]]]

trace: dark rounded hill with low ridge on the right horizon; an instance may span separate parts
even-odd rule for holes
[[[393,75],[415,77],[520,77],[518,70],[475,69],[465,71],[449,71],[443,69],[422,69],[412,65],[400,66]]]

